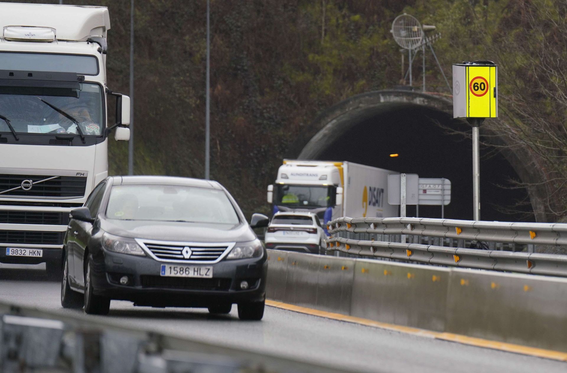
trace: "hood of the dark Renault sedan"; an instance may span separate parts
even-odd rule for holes
[[[206,224],[178,221],[101,220],[100,228],[121,237],[183,242],[246,242],[256,238],[247,223]]]

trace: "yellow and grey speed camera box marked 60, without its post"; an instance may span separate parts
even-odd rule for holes
[[[454,118],[498,117],[497,68],[489,61],[453,65]]]

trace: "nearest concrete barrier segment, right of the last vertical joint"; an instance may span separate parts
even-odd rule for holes
[[[567,279],[454,269],[446,331],[567,351]]]

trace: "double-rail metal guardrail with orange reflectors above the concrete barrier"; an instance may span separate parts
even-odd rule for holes
[[[567,245],[567,224],[512,223],[431,218],[349,218],[329,223],[329,232],[375,235],[418,235],[456,240]],[[327,251],[419,263],[567,277],[567,255],[538,254],[416,243],[333,237]]]

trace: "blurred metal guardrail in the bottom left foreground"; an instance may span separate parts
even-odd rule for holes
[[[234,321],[238,323],[239,321]],[[0,372],[338,373],[333,367],[0,301]]]

